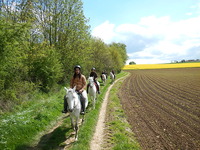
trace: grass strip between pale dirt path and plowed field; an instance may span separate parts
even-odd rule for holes
[[[107,112],[112,116],[112,119],[107,122],[109,138],[106,143],[111,143],[109,149],[138,150],[140,149],[140,146],[134,138],[130,125],[126,121],[126,115],[117,95],[122,82],[123,79],[118,81],[110,91]],[[104,147],[108,148],[108,145],[104,145]]]

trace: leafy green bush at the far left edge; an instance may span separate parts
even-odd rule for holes
[[[33,89],[32,83],[26,81],[26,23],[0,21],[0,108],[9,110],[13,104],[20,104],[21,94]]]

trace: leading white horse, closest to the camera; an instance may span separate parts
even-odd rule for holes
[[[72,129],[75,130],[75,141],[78,140],[78,123],[80,120],[80,112],[81,112],[81,102],[80,102],[80,97],[76,93],[76,87],[73,89],[67,89],[66,90],[66,99],[68,103],[68,109],[69,109],[69,114],[70,114],[70,119],[71,119],[71,125]],[[82,95],[86,98],[85,100],[85,108],[88,105],[88,100],[87,100],[87,93],[86,91],[83,91]],[[83,116],[83,121],[84,121],[84,116]]]

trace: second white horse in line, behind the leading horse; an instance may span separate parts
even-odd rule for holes
[[[88,78],[88,94],[90,96],[90,98],[92,99],[92,105],[93,105],[93,109],[95,109],[95,104],[96,104],[96,98],[97,98],[97,88],[94,82],[94,78],[93,77],[89,77]],[[100,88],[100,84],[97,81],[97,84],[99,85]]]

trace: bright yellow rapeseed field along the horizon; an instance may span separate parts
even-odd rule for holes
[[[197,62],[197,63],[177,63],[177,64],[138,64],[138,65],[125,65],[122,68],[122,70],[189,68],[189,67],[200,67],[200,62]]]

